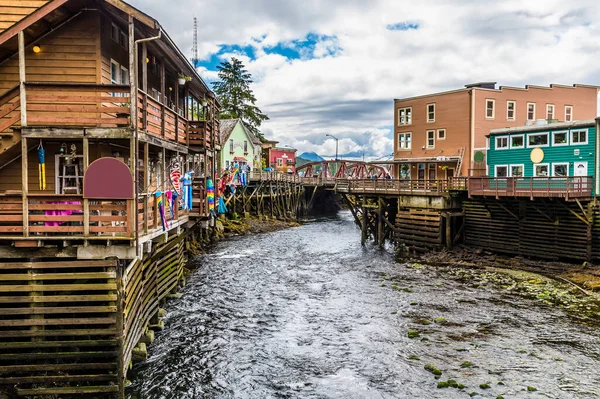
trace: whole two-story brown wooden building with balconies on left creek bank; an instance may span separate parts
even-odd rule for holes
[[[125,2],[0,2],[0,396],[123,397],[212,220],[218,115]]]

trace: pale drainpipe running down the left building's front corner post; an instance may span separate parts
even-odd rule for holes
[[[133,131],[134,131],[134,146],[135,146],[135,154],[134,154],[134,175],[133,175],[133,185],[134,185],[134,206],[133,212],[135,217],[133,221],[135,223],[135,253],[138,258],[142,259],[143,251],[140,250],[140,232],[139,232],[139,223],[137,220],[137,207],[138,207],[138,192],[139,192],[139,118],[138,118],[138,45],[140,43],[152,42],[155,40],[159,40],[162,37],[162,28],[159,28],[158,35],[153,37],[148,37],[144,39],[135,40],[135,25],[134,18],[132,15],[129,16],[129,84],[131,87],[131,121],[133,123]],[[133,52],[133,54],[132,54]],[[144,173],[148,173],[147,170]],[[148,195],[146,193],[146,195]],[[148,215],[144,215],[144,217],[148,217]]]

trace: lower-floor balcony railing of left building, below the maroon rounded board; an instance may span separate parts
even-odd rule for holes
[[[142,240],[163,233],[162,219],[154,194],[137,201],[137,227]],[[163,201],[166,204],[166,201]],[[133,200],[94,200],[81,195],[29,195],[24,206],[19,195],[0,195],[0,240],[108,240],[133,241]],[[188,212],[165,206],[165,229],[188,220]]]

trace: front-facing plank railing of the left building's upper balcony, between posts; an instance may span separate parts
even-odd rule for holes
[[[129,126],[129,86],[26,83],[29,126]]]

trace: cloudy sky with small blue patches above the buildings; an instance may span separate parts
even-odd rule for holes
[[[600,84],[597,0],[131,0],[201,75],[236,56],[268,138],[303,151],[392,153],[393,99],[502,85]]]

